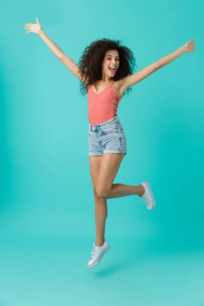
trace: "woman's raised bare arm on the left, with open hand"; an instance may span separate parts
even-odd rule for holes
[[[80,72],[79,72],[79,66],[72,61],[68,56],[64,54],[62,49],[58,47],[54,41],[52,41],[44,32],[44,30],[41,27],[41,24],[36,18],[37,23],[27,23],[25,24],[25,29],[28,29],[28,32],[25,33],[35,33],[39,35],[42,40],[46,43],[46,45],[49,47],[49,49],[57,56],[57,58],[69,69],[71,73],[75,75],[78,79],[81,80]]]

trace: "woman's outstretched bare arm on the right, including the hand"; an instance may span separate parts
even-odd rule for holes
[[[137,84],[138,82],[144,80],[150,74],[157,71],[161,67],[169,64],[170,62],[175,60],[177,57],[182,55],[183,53],[185,53],[185,52],[193,53],[194,52],[193,49],[195,47],[194,41],[195,41],[195,39],[189,40],[185,45],[181,46],[179,49],[177,49],[174,52],[172,52],[172,53],[168,54],[167,56],[163,57],[162,59],[155,62],[154,64],[151,64],[151,65],[143,68],[142,70],[140,70],[140,71],[138,71],[138,72],[136,72],[132,75],[128,75],[127,77],[123,78],[124,82],[121,84],[120,91],[122,91],[124,93],[125,90],[127,90],[127,88],[129,88],[129,87]]]

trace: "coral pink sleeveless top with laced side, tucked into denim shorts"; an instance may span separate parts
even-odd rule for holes
[[[117,115],[118,104],[121,97],[116,95],[113,84],[100,93],[93,91],[93,85],[88,88],[88,117],[91,125],[108,121]]]

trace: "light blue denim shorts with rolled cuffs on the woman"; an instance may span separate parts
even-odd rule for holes
[[[118,116],[97,125],[89,123],[89,156],[105,153],[126,155],[126,138]]]

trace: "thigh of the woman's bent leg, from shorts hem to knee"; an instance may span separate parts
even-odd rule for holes
[[[103,155],[97,177],[97,193],[106,193],[111,190],[123,157],[124,154]]]

